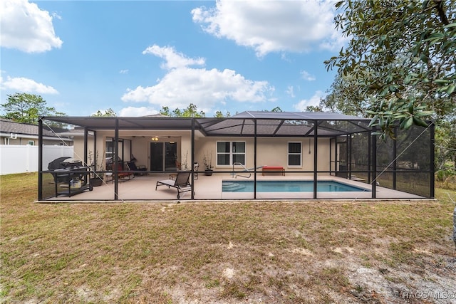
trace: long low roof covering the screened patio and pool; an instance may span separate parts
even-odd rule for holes
[[[199,130],[206,136],[318,137],[366,132],[370,120],[333,112],[247,111],[233,117],[43,117],[88,130]],[[194,124],[195,121],[195,124]],[[257,132],[255,132],[255,125]]]

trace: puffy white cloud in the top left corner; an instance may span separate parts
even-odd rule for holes
[[[0,44],[26,53],[50,51],[60,48],[62,41],[56,36],[48,11],[27,0],[0,1]]]

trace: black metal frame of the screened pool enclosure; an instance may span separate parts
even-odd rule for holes
[[[177,127],[172,124],[172,122],[179,122],[180,123],[180,130],[191,130],[191,140],[192,140],[192,145],[191,145],[191,159],[192,163],[195,162],[195,130],[199,130],[202,132],[203,135],[206,136],[237,136],[237,137],[254,137],[254,171],[252,172],[254,174],[254,199],[257,199],[257,173],[259,170],[257,169],[257,157],[258,157],[258,152],[257,152],[257,139],[258,137],[298,137],[298,138],[314,138],[314,199],[318,199],[317,196],[317,185],[316,181],[318,180],[318,174],[319,173],[329,173],[333,174],[334,172],[338,171],[338,164],[337,164],[337,159],[334,158],[334,160],[330,159],[330,162],[335,161],[334,168],[331,169],[331,164],[329,167],[329,171],[319,171],[318,170],[318,138],[330,138],[330,149],[331,149],[331,141],[333,140],[334,142],[334,147],[335,147],[335,155],[332,154],[332,151],[330,152],[330,158],[331,156],[336,157],[338,151],[338,141],[337,138],[341,135],[346,135],[348,142],[347,145],[348,147],[348,155],[347,157],[351,157],[351,135],[352,134],[357,134],[361,132],[368,132],[368,170],[366,171],[356,171],[356,172],[363,172],[368,174],[368,182],[371,184],[371,192],[372,192],[372,198],[376,198],[376,179],[378,178],[377,174],[377,137],[371,136],[372,132],[375,132],[375,127],[363,127],[361,126],[358,128],[358,130],[353,130],[353,131],[348,131],[348,130],[338,130],[336,127],[331,127],[324,126],[322,127],[321,124],[323,122],[338,122],[338,121],[343,121],[343,122],[351,122],[353,126],[359,127],[359,123],[356,124],[355,122],[363,122],[366,123],[368,120],[362,119],[355,117],[356,119],[353,118],[353,120],[349,119],[333,119],[333,120],[318,120],[318,119],[309,119],[309,118],[294,118],[294,119],[287,119],[287,117],[280,118],[280,112],[276,113],[277,115],[274,117],[225,117],[222,119],[217,119],[217,118],[175,118],[175,117],[109,117],[109,120],[107,123],[103,124],[103,118],[106,117],[90,117],[90,122],[87,123],[87,125],[84,126],[84,162],[87,162],[87,142],[88,142],[88,132],[93,131],[93,134],[95,136],[95,145],[96,145],[96,130],[114,130],[114,162],[117,162],[117,155],[119,154],[118,151],[118,140],[119,140],[119,130],[120,130],[120,123],[122,123],[122,130],[145,130],[145,123],[146,119],[147,120],[157,120],[160,121],[160,124],[154,125],[153,129],[150,127],[148,130],[177,130]],[[43,192],[42,192],[42,185],[43,185],[43,173],[46,173],[46,171],[43,171],[43,163],[42,163],[42,155],[43,155],[43,120],[54,120],[58,122],[73,122],[73,121],[79,121],[83,122],[84,120],[81,120],[81,117],[41,117],[39,120],[39,149],[38,149],[38,200],[43,200]],[[240,120],[238,123],[236,120]],[[259,126],[258,122],[261,121],[262,125],[261,127],[264,127],[267,125],[267,121],[274,122],[276,127],[274,128],[274,132],[271,134],[259,134]],[[281,122],[277,122],[278,120],[281,120]],[[307,127],[307,131],[304,134],[300,135],[295,135],[295,134],[279,134],[278,130],[280,127],[283,127],[286,125],[284,122],[288,121],[303,121],[305,127]],[[112,123],[114,122],[114,127],[112,127]],[[231,122],[231,125],[229,125],[229,122]],[[129,125],[128,125],[129,123]],[[235,126],[242,126],[241,131],[238,134],[233,134],[232,132],[227,132],[223,134],[217,134],[213,135],[211,132],[214,132],[214,130],[223,130],[222,127],[220,129],[217,129],[217,124],[219,123],[224,123],[225,125],[229,125],[229,127],[235,127]],[[309,127],[313,126],[313,127]],[[211,127],[211,130],[206,129],[207,127]],[[246,130],[253,130],[252,133],[246,132]],[[320,134],[318,130],[323,130],[323,132]],[[334,134],[328,134],[328,132],[334,132]],[[434,140],[434,125],[430,125],[430,170],[425,171],[426,173],[429,173],[431,176],[430,180],[430,198],[434,197],[434,150],[433,150],[433,140]],[[96,146],[95,146],[96,147]],[[394,156],[396,157],[397,150],[394,148]],[[349,164],[349,162],[347,162]],[[192,167],[192,166],[191,166]],[[395,174],[396,174],[397,167],[395,164],[393,164],[393,174],[394,174],[394,188],[395,188]],[[117,166],[114,164],[113,166],[113,179],[114,179],[114,200],[118,200],[118,174],[117,174]],[[152,171],[149,171],[152,172]],[[192,196],[191,199],[195,199],[194,197],[194,191],[193,191],[193,185],[194,185],[194,178],[195,178],[195,169],[192,167],[191,169],[191,176],[192,176]],[[288,170],[286,172],[290,173],[299,173],[302,171],[291,171]],[[158,173],[158,172],[152,172],[152,173]],[[161,172],[165,173],[165,172]],[[214,172],[217,173],[217,172]],[[225,171],[219,171],[218,173],[226,173]],[[352,174],[354,171],[352,171],[351,164],[349,167],[346,169],[347,174]]]

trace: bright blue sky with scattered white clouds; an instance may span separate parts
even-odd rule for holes
[[[346,43],[334,1],[0,1],[0,93],[68,116],[304,111]],[[2,112],[4,114],[4,112]]]

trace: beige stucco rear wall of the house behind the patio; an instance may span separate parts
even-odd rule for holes
[[[130,131],[132,132],[132,131]],[[125,140],[124,160],[130,160],[130,152],[137,159],[136,164],[145,165],[150,169],[150,142],[151,137],[157,132],[150,131],[145,135],[122,135],[120,138]],[[192,140],[190,131],[168,132],[159,136],[158,142],[177,142],[177,159],[184,163],[190,169],[192,161]],[[112,137],[113,132],[97,133],[98,155],[105,154],[105,141],[107,137]],[[132,142],[132,150],[128,140]],[[254,167],[254,138],[253,137],[202,137],[195,136],[195,161],[199,163],[199,170],[204,170],[204,154],[209,155],[212,152],[212,166],[215,171],[231,170],[232,166],[217,164],[217,142],[246,142],[246,167]],[[301,166],[288,166],[288,143],[301,142]],[[330,169],[330,152],[329,139],[318,139],[318,170]],[[83,139],[78,137],[74,139],[75,158],[83,157]],[[88,140],[88,150],[93,150],[93,137]],[[76,156],[78,155],[78,156]],[[79,157],[81,155],[81,157]],[[100,156],[98,162],[100,161]],[[314,171],[314,139],[311,138],[293,138],[293,137],[259,137],[257,138],[257,167],[259,166],[281,166],[287,171]]]

